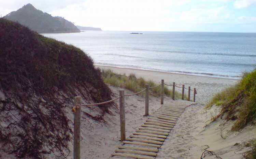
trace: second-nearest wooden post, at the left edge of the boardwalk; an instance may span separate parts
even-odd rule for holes
[[[120,135],[121,141],[125,140],[125,91],[119,90],[119,109],[120,109]]]

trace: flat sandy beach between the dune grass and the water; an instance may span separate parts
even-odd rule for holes
[[[237,79],[226,79],[226,78],[215,78],[215,77],[205,77],[205,76],[195,76],[187,74],[178,73],[168,73],[159,71],[148,71],[130,68],[120,68],[112,66],[100,66],[95,65],[100,69],[111,69],[118,74],[129,75],[134,73],[137,77],[143,77],[145,79],[151,79],[155,82],[160,83],[161,79],[164,79],[166,83],[172,84],[175,82],[177,85],[184,84],[185,87],[190,86],[191,88],[196,88],[197,95],[196,101],[198,103],[206,104],[216,92],[235,84]],[[181,92],[181,88],[175,88],[177,91]],[[185,91],[187,94],[187,91]]]

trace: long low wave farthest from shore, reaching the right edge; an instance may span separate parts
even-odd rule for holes
[[[197,55],[216,55],[216,56],[238,56],[238,57],[256,57],[256,55],[246,54],[232,54],[232,53],[211,53],[211,52],[189,52],[189,51],[170,51],[170,50],[154,50],[154,49],[141,49],[133,48],[138,51],[153,51],[153,52],[167,52],[167,53],[180,53],[180,54],[197,54]]]

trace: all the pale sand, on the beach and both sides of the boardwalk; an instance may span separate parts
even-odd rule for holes
[[[104,69],[112,69],[116,73],[136,74],[137,77],[152,79],[160,82],[165,79],[165,82],[197,88],[196,101],[198,103],[207,103],[213,94],[221,89],[233,85],[237,82],[234,79],[202,77],[193,75],[183,75],[175,73],[165,73],[157,71],[144,71],[127,68],[117,68],[108,66],[97,66]],[[114,92],[114,96],[118,95],[116,87],[110,87]],[[126,91],[126,93],[132,93]],[[165,98],[165,102],[172,101],[170,98]],[[118,101],[117,101],[118,103]],[[126,136],[131,135],[147,117],[144,114],[144,98],[139,95],[129,96],[125,99],[126,106]],[[118,105],[118,104],[117,104]],[[150,96],[150,113],[160,106],[160,99]],[[203,109],[204,105],[197,104],[186,108],[181,115],[174,129],[171,131],[168,139],[161,147],[157,158],[200,158],[205,148],[206,150],[215,152],[223,159],[226,158],[242,158],[242,152],[246,151],[243,142],[255,138],[255,126],[248,126],[241,132],[230,133],[232,126],[231,122],[226,123],[225,120],[217,119],[210,123],[212,116],[219,113],[219,107],[212,107],[210,110]],[[90,113],[98,113],[98,109],[83,108],[82,111]],[[111,109],[112,115],[106,114],[104,120],[107,122],[95,122],[82,118],[82,137],[81,141],[81,158],[86,159],[103,159],[110,157],[111,153],[117,146],[121,145],[120,140],[120,121],[118,108]],[[70,118],[72,114],[70,114]],[[84,116],[86,117],[86,116]],[[210,124],[209,124],[210,123]],[[205,127],[205,125],[208,125]],[[222,136],[225,138],[223,139]],[[234,146],[235,143],[239,143]],[[72,150],[72,144],[70,145]],[[69,158],[72,158],[72,152]],[[215,156],[207,155],[205,158],[216,158]]]

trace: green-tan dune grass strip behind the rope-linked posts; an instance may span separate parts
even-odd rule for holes
[[[121,87],[128,89],[132,92],[139,92],[145,88],[145,84],[149,84],[150,87],[155,87],[159,84],[156,84],[152,80],[146,81],[144,78],[137,78],[135,74],[130,74],[129,76],[116,74],[112,70],[102,70],[101,72],[102,78],[106,84],[115,87]],[[150,89],[151,93],[156,96],[161,95],[161,87],[156,87]],[[164,87],[164,93],[167,96],[172,96],[172,89],[168,89],[166,86]],[[181,99],[182,94],[180,92],[175,91],[175,99]],[[185,96],[186,99],[186,96]]]

